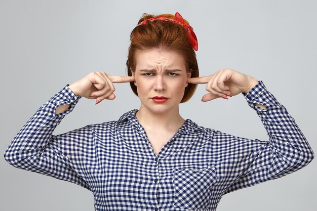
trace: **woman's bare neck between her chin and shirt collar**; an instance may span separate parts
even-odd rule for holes
[[[160,131],[177,131],[184,123],[184,119],[179,114],[179,109],[175,108],[166,113],[153,113],[141,106],[135,114],[144,129]]]

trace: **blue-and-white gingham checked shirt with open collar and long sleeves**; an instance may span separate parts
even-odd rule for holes
[[[53,136],[80,99],[65,87],[23,126],[5,159],[91,190],[98,211],[216,210],[222,195],[295,172],[314,156],[294,119],[261,81],[245,98],[269,141],[231,136],[186,119],[156,156],[137,110]],[[55,114],[64,104],[70,109]]]

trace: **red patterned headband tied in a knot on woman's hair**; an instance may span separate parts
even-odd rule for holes
[[[189,43],[192,46],[192,48],[195,51],[197,51],[198,50],[198,41],[197,41],[196,34],[194,33],[192,27],[190,25],[184,24],[184,19],[179,13],[175,13],[174,17],[175,17],[175,20],[169,19],[169,18],[164,17],[164,16],[153,17],[153,18],[149,18],[147,20],[142,21],[141,23],[138,24],[138,26],[143,25],[143,24],[147,24],[147,21],[154,21],[154,20],[162,20],[162,21],[167,20],[167,21],[172,21],[174,23],[178,23],[178,24],[182,25],[187,30]]]

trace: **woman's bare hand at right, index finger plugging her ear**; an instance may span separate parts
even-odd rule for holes
[[[208,83],[206,90],[209,92],[204,95],[202,101],[210,101],[216,98],[228,99],[240,93],[248,93],[258,80],[250,75],[232,69],[216,71],[215,74],[203,77],[188,78],[188,83],[204,84]]]

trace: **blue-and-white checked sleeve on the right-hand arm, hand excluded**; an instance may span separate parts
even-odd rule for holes
[[[293,173],[314,157],[306,138],[286,108],[268,92],[260,81],[248,94],[248,104],[257,112],[269,141],[248,140],[215,133],[214,139],[225,137],[230,148],[228,157],[234,162],[223,166],[229,173],[225,193],[273,180]],[[257,106],[265,106],[265,109]],[[216,141],[217,142],[217,141]],[[230,171],[228,171],[230,169]]]

